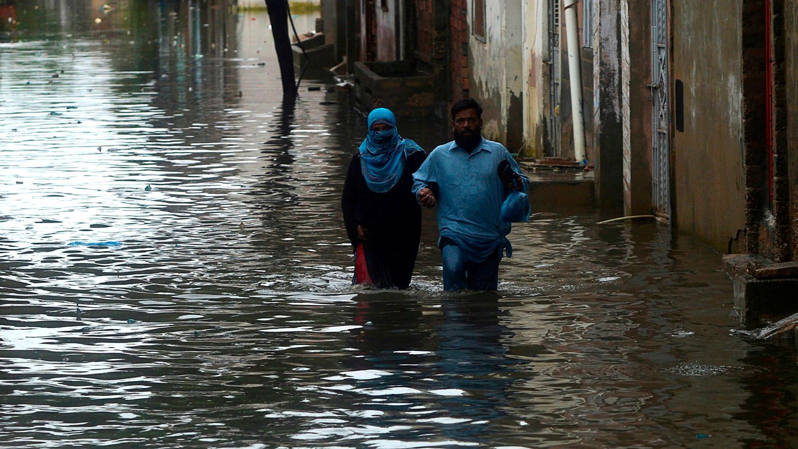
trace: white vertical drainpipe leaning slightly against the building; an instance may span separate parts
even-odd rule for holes
[[[568,74],[571,77],[571,121],[574,123],[574,153],[583,161],[585,152],[585,111],[582,108],[582,69],[579,63],[579,26],[576,23],[576,2],[565,0],[565,30],[568,38]]]

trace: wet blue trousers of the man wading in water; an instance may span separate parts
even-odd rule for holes
[[[469,262],[456,244],[447,244],[441,250],[444,265],[444,290],[498,290],[498,251],[480,263]]]

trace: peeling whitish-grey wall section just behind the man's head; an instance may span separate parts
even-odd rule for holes
[[[485,7],[485,40],[469,39],[469,92],[484,109],[484,136],[516,153],[523,147],[524,124],[522,2],[486,2]],[[472,8],[468,2],[469,30]]]

